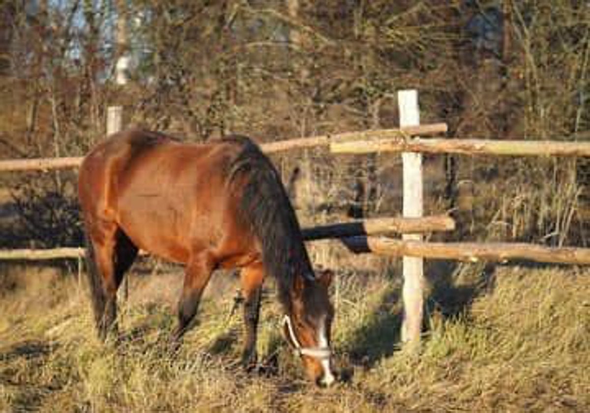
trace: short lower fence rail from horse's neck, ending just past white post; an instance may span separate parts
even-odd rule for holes
[[[453,231],[455,221],[448,215],[433,215],[422,218],[369,218],[362,221],[344,222],[304,228],[305,241],[327,238],[356,237],[358,235],[416,234],[434,231]]]

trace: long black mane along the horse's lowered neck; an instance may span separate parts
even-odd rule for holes
[[[260,241],[264,270],[276,279],[278,299],[290,312],[295,278],[313,277],[297,216],[277,170],[260,148],[245,136],[224,140],[241,145],[227,182],[244,182],[239,214]]]

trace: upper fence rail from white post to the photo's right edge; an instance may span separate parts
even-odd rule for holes
[[[496,156],[590,156],[590,142],[487,139],[378,139],[330,143],[332,153],[457,153]]]

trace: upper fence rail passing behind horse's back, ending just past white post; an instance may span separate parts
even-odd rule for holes
[[[360,132],[339,133],[336,135],[320,135],[302,137],[300,139],[281,140],[279,142],[263,143],[264,152],[273,153],[283,150],[313,148],[316,146],[328,146],[330,142],[346,141],[351,139],[366,140],[391,137],[409,137],[415,135],[434,135],[447,132],[446,123],[425,124],[421,126],[405,127],[402,129],[379,129]],[[48,171],[49,169],[77,168],[82,162],[82,157],[71,158],[36,158],[36,159],[10,159],[0,160],[0,172],[8,171]]]

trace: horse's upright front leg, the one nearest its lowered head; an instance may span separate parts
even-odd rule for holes
[[[258,317],[260,315],[260,298],[264,281],[264,270],[261,263],[245,267],[240,273],[242,295],[244,296],[245,341],[242,352],[242,365],[251,371],[257,364],[256,341]]]

